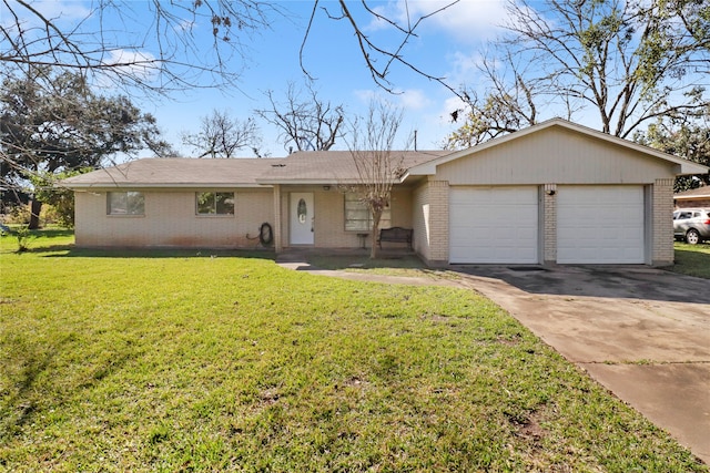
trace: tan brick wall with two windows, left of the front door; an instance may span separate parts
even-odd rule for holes
[[[273,193],[235,193],[234,215],[195,215],[195,191],[144,192],[145,215],[106,215],[106,192],[77,192],[78,246],[250,248],[274,225]]]

